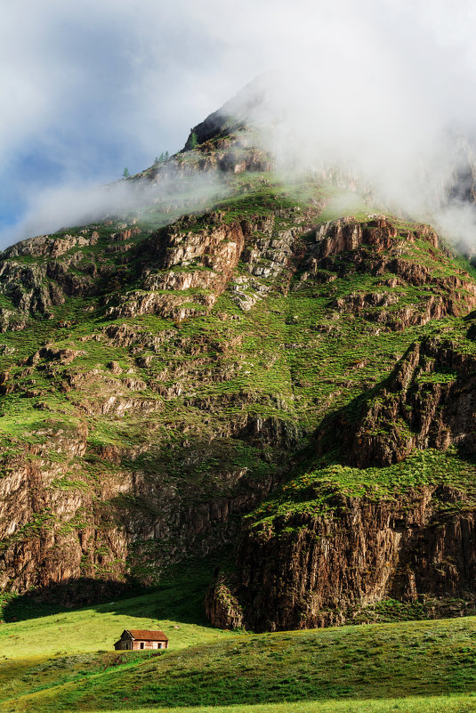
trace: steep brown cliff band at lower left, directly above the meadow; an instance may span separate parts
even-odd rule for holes
[[[87,433],[81,435],[78,440],[78,434],[68,434],[60,450],[58,434],[49,433],[61,455],[79,460],[87,450]],[[148,561],[161,569],[187,554],[207,555],[233,534],[233,527],[226,527],[230,516],[246,512],[259,498],[255,490],[183,507],[173,489],[148,482],[141,473],[122,471],[121,480],[109,476],[93,483],[77,468],[72,481],[61,465],[41,458],[41,452],[29,455],[40,459],[9,461],[1,482],[0,586],[19,592],[33,588],[39,596],[49,596],[70,584],[60,592],[64,604],[121,591],[128,559],[129,568],[141,567],[140,579],[147,583],[157,579],[157,573],[154,578],[147,571]],[[101,458],[110,469],[120,465],[121,454],[104,449]],[[229,481],[233,475],[237,482],[244,474],[227,474]],[[261,494],[269,488],[270,482],[262,482]],[[120,498],[130,500],[126,511]],[[163,550],[155,557],[154,545]],[[81,584],[85,581],[87,586]]]

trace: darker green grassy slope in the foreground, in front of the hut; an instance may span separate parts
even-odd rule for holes
[[[344,711],[380,711],[391,709],[390,699],[407,711],[476,709],[476,697],[470,697],[476,695],[474,617],[230,636],[215,642],[156,657],[128,658],[125,653],[117,662],[111,654],[109,659],[99,654],[89,664],[83,660],[80,669],[71,657],[60,662],[58,685],[48,683],[47,669],[36,668],[30,671],[30,693],[25,688],[14,701],[9,696],[2,709],[52,713],[229,706],[238,711],[259,704],[278,710],[277,704],[286,703],[288,711],[297,713],[303,701],[322,701],[316,710],[340,710],[335,708],[339,703]],[[439,696],[449,696],[446,708],[439,708],[440,702],[415,707],[414,697]],[[382,702],[371,707],[367,699]]]

